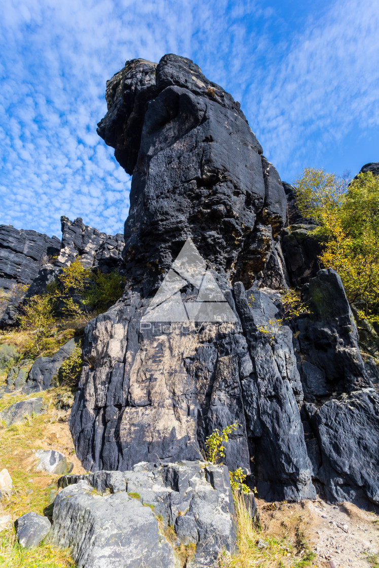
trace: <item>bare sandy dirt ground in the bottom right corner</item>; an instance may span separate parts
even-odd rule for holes
[[[270,504],[257,499],[257,504],[260,523],[267,532],[293,541],[303,534],[317,555],[312,566],[373,566],[367,557],[379,553],[379,517],[374,513],[351,503],[330,505],[322,500]]]

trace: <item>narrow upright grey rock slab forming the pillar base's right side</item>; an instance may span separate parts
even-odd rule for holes
[[[257,289],[245,293],[238,283],[235,296],[250,356],[249,373],[241,386],[249,447],[256,456],[257,488],[269,500],[283,495],[288,500],[313,498],[316,493],[298,408],[303,393],[292,334],[286,326],[277,329],[273,340],[259,332],[278,316],[268,294]]]

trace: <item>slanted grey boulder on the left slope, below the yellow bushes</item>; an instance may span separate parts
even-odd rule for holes
[[[78,341],[77,337],[73,337],[73,339],[65,343],[52,357],[38,357],[31,367],[22,392],[24,394],[31,394],[32,392],[40,392],[49,389],[51,387],[52,378],[57,375],[63,361],[70,356]]]

